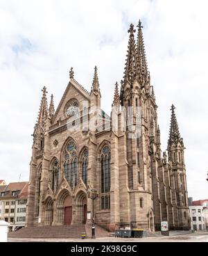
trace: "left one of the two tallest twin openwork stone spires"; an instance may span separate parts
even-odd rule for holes
[[[136,59],[136,46],[135,46],[135,29],[134,25],[130,24],[130,29],[128,33],[130,33],[130,38],[128,41],[128,51],[127,51],[127,58],[125,62],[125,71],[124,71],[124,83],[127,81],[132,84],[136,77],[136,70],[137,70],[137,59]]]

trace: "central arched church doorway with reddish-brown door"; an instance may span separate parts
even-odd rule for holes
[[[60,225],[71,225],[72,222],[72,198],[69,191],[64,189],[57,199],[57,223]]]

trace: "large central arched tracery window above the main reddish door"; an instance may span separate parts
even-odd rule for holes
[[[69,141],[64,154],[64,176],[71,189],[77,184],[77,151],[73,141]]]

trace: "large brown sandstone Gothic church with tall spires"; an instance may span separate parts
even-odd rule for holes
[[[154,232],[161,221],[168,221],[172,230],[189,229],[185,147],[175,106],[171,106],[166,154],[161,150],[140,21],[137,28],[136,37],[133,24],[128,30],[124,77],[120,93],[116,83],[112,102],[116,111],[110,116],[100,109],[97,67],[90,93],[76,81],[71,68],[56,110],[53,95],[48,107],[43,88],[33,133],[28,227],[94,221],[110,231],[132,227]],[[132,109],[127,114],[131,123],[123,122],[124,108]],[[114,129],[113,119],[117,121]],[[91,121],[96,129],[89,129]],[[139,127],[138,136],[132,136],[135,127]]]

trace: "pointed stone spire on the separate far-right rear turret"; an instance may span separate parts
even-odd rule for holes
[[[170,127],[170,133],[169,133],[169,139],[168,139],[168,148],[173,144],[177,144],[180,142],[183,145],[182,138],[180,136],[180,131],[177,125],[177,119],[175,115],[175,106],[171,106],[171,127]]]

